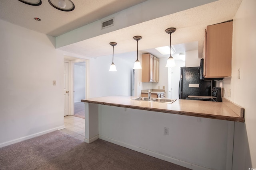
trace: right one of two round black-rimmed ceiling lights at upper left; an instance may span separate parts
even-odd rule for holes
[[[75,5],[71,0],[48,0],[48,2],[51,6],[61,11],[72,11],[75,9]]]

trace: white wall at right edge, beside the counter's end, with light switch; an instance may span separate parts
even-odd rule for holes
[[[223,80],[231,98],[245,109],[245,123],[235,123],[233,169],[256,167],[256,1],[243,0],[233,22],[232,77]],[[240,79],[237,78],[240,68]]]

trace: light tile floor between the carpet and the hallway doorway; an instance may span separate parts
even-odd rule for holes
[[[83,118],[76,116],[65,116],[64,117],[65,129],[60,131],[67,133],[81,141],[84,141],[85,137],[85,121]]]

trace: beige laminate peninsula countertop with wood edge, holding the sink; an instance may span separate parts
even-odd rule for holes
[[[223,98],[223,102],[200,100],[176,100],[172,104],[130,100],[133,96],[106,96],[81,100],[81,102],[108,106],[126,107],[163,113],[205,117],[229,121],[244,122],[244,109]]]

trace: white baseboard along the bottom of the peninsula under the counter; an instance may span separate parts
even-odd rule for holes
[[[104,137],[102,135],[99,135],[99,138],[104,140],[104,141],[108,141],[110,143],[114,143],[116,145],[120,145],[122,147],[126,147],[128,149],[132,149],[132,150],[135,150],[137,152],[140,152],[140,153],[143,153],[143,154],[146,154],[146,155],[149,155],[149,156],[161,159],[161,160],[171,162],[173,164],[177,164],[177,165],[180,165],[180,166],[183,166],[183,167],[186,167],[186,168],[190,168],[192,170],[210,170],[209,168],[206,168],[206,167],[203,167],[203,166],[192,164],[190,162],[179,160],[177,158],[166,156],[166,155],[163,155],[163,154],[151,151],[151,150],[147,150],[147,149],[143,149],[143,148],[136,147],[136,146],[133,146],[133,145],[129,145],[129,144],[126,144],[126,143],[123,143],[123,142],[120,142],[120,141],[116,141],[116,140],[108,138],[108,137]]]

